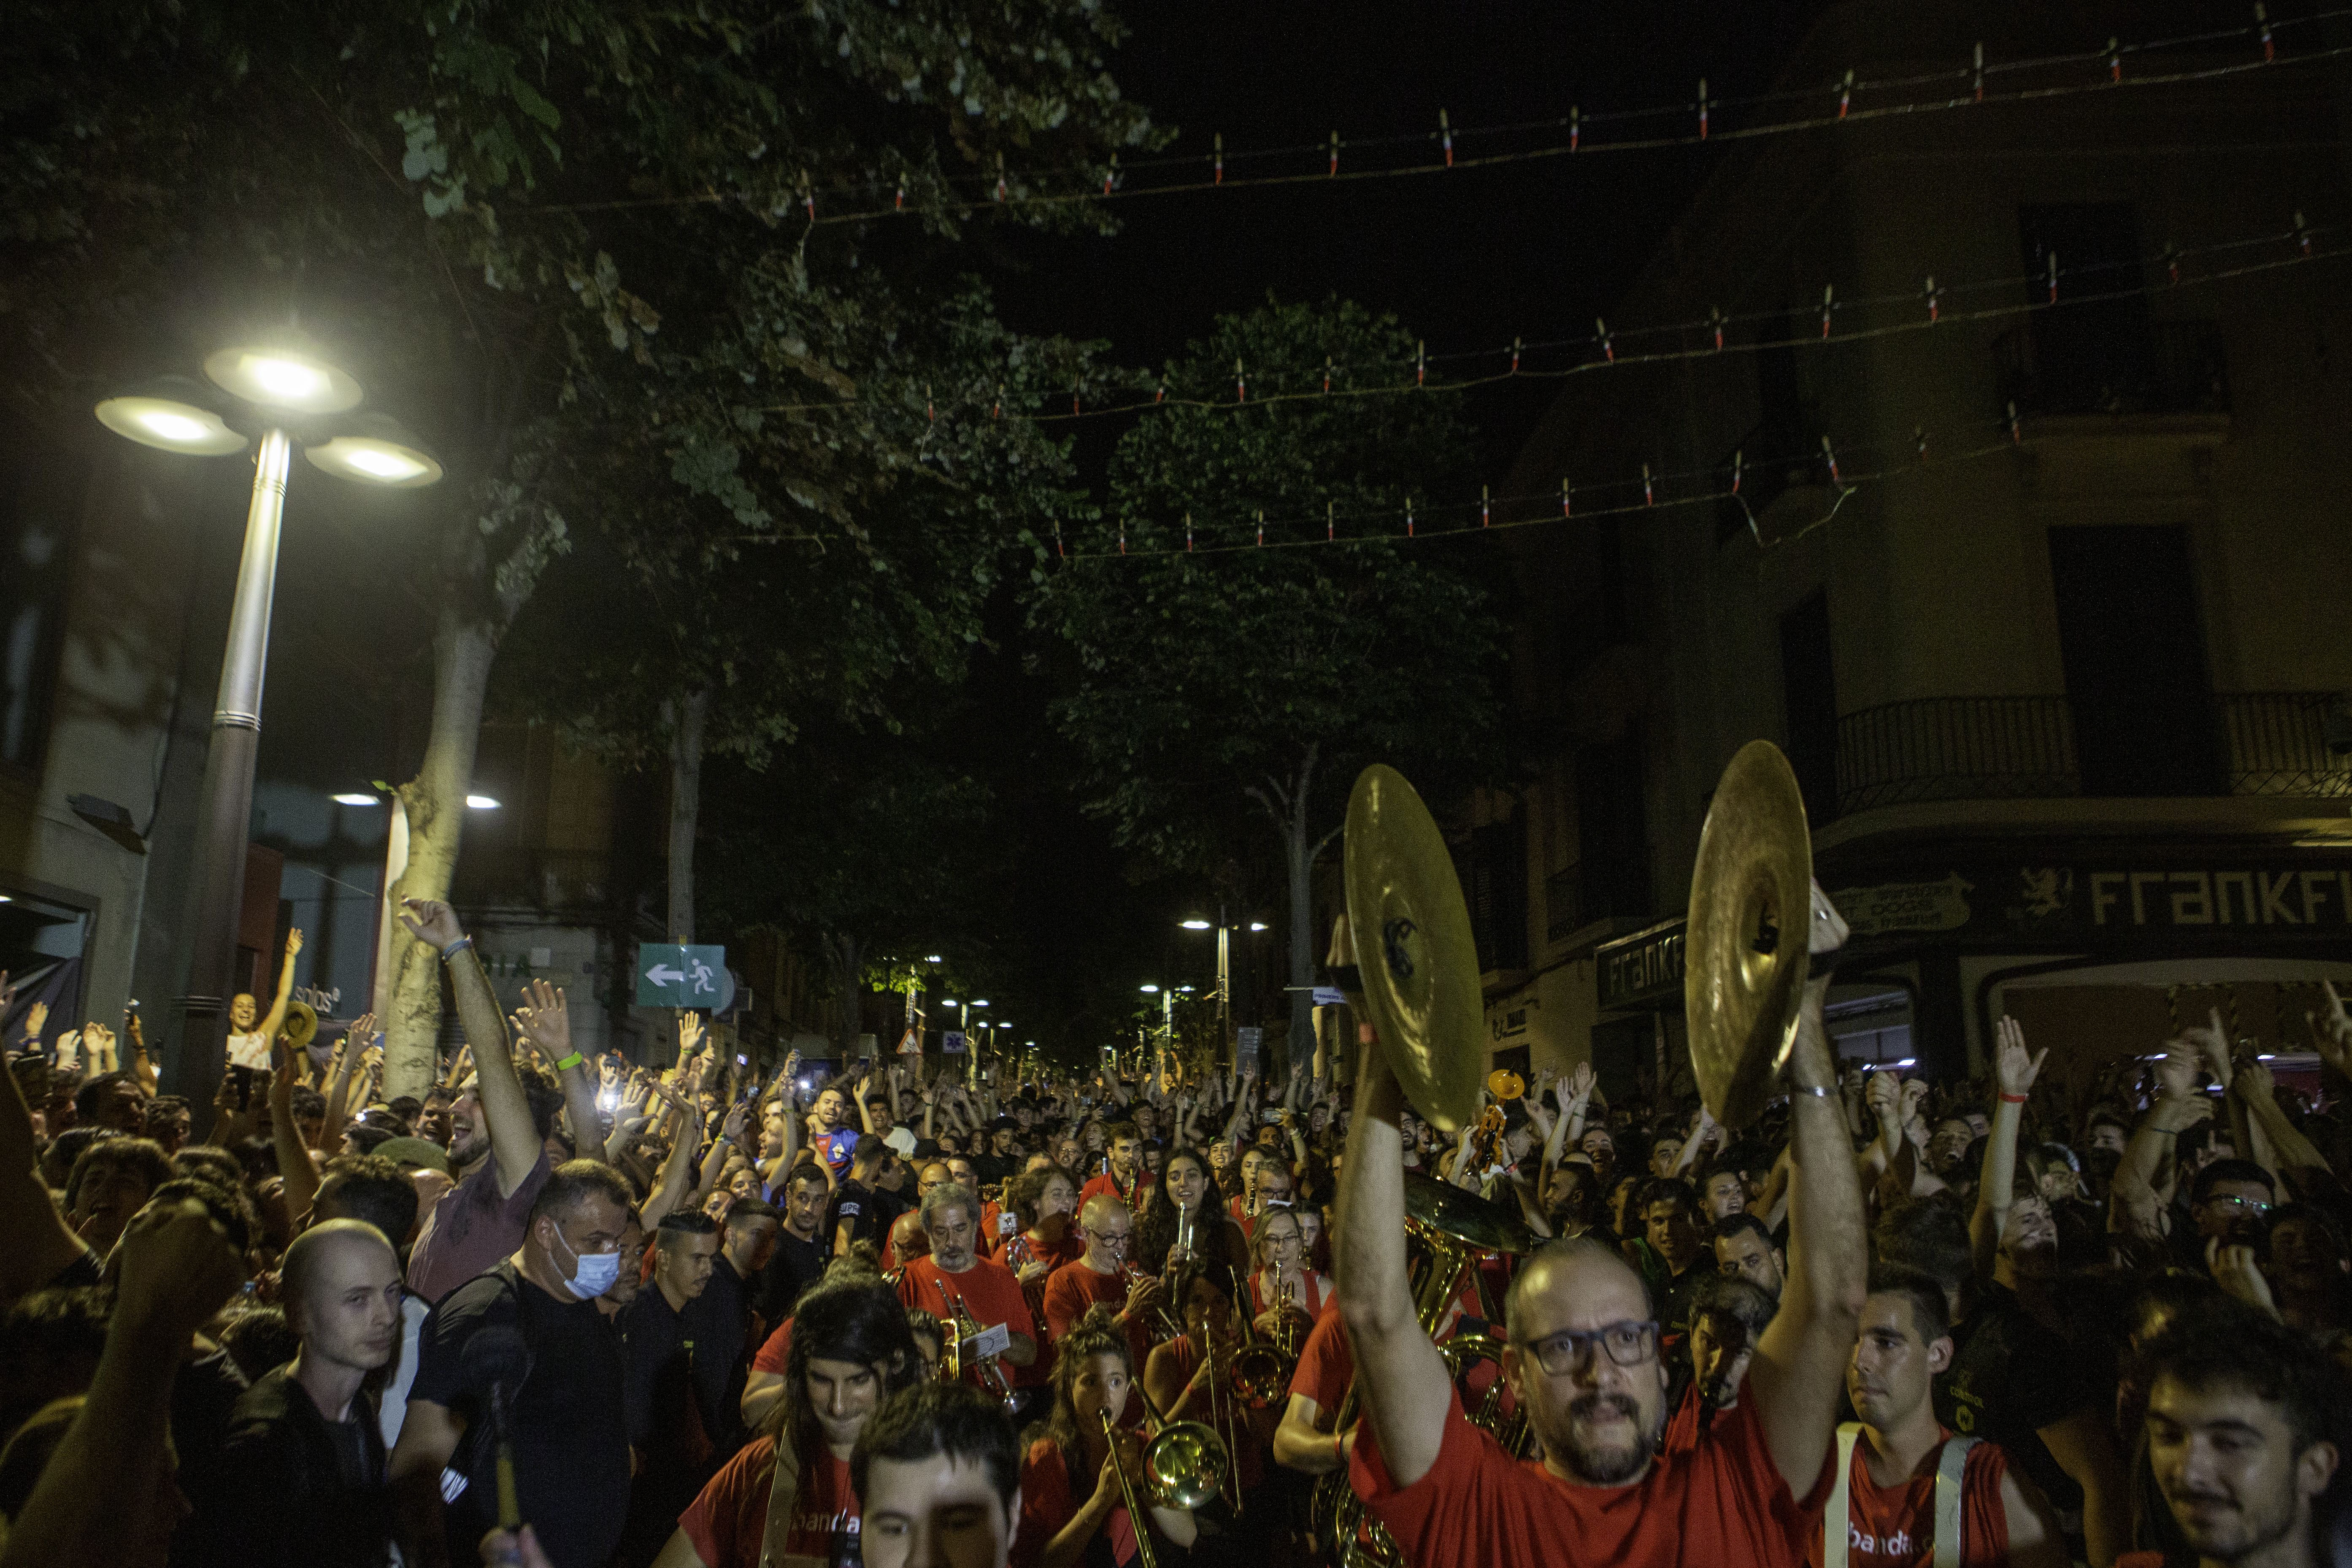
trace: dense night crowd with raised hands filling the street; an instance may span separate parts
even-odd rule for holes
[[[1376,1046],[593,1060],[405,924],[423,1095],[280,987],[198,1140],[134,1020],[24,1016],[0,1568],[2352,1561],[2352,1119],[2218,1018],[1931,1084],[1842,1072],[1816,978],[1755,1126],[1578,1067],[1449,1138]],[[1432,1182],[1534,1246],[1446,1272]]]

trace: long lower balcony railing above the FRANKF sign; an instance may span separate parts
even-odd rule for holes
[[[1931,799],[2067,795],[2352,797],[2333,691],[1943,696],[1837,722],[1839,813]]]

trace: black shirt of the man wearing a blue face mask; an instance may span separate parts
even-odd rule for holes
[[[652,1286],[637,1293],[647,1295],[661,1293]],[[445,1295],[416,1340],[409,1403],[447,1406],[468,1425],[452,1458],[452,1467],[468,1467],[468,1486],[447,1507],[449,1561],[477,1561],[475,1544],[499,1519],[496,1453],[470,1432],[489,1420],[489,1392],[470,1387],[461,1363],[466,1340],[492,1324],[520,1328],[532,1352],[532,1371],[508,1406],[522,1516],[539,1530],[548,1561],[604,1563],[628,1516],[621,1335],[593,1300],[557,1300],[522,1279],[513,1260]]]

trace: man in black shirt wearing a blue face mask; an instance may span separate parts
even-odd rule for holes
[[[419,1338],[409,1413],[393,1448],[400,1544],[409,1568],[473,1563],[499,1519],[489,1389],[466,1375],[485,1328],[522,1335],[532,1371],[506,1389],[522,1516],[555,1563],[604,1563],[628,1516],[628,1415],[621,1335],[597,1312],[621,1272],[630,1190],[612,1166],[574,1159],[532,1204],[522,1248],[433,1307]]]

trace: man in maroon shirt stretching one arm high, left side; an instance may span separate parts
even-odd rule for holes
[[[433,1204],[416,1251],[409,1253],[409,1291],[437,1302],[522,1246],[524,1220],[539,1190],[548,1185],[543,1143],[564,1105],[564,1091],[536,1070],[515,1067],[499,997],[449,905],[428,898],[402,903],[407,907],[400,924],[416,940],[430,943],[449,966],[456,1016],[475,1065],[475,1081],[449,1107],[449,1166],[456,1187]],[[569,1060],[574,1065],[567,1072],[583,1077],[579,1058]],[[583,1157],[602,1159],[602,1152],[597,1143]]]

